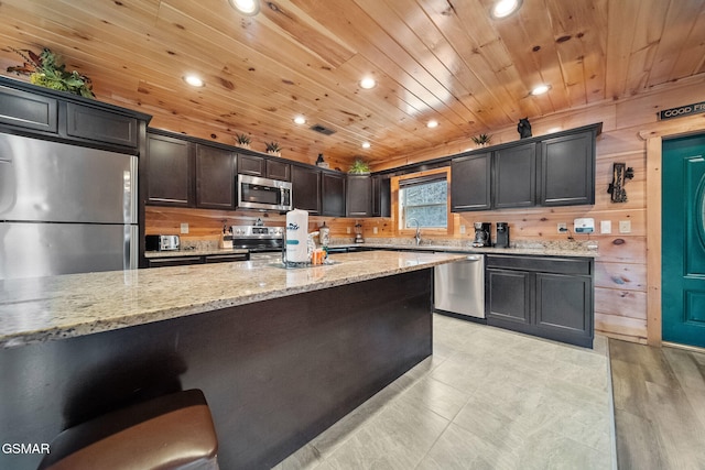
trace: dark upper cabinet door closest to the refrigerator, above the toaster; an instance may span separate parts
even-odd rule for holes
[[[147,203],[193,206],[194,159],[188,142],[163,135],[147,138]]]

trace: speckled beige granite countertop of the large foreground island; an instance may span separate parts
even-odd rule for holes
[[[0,347],[78,337],[432,267],[459,254],[369,251],[335,264],[196,264],[0,281]]]

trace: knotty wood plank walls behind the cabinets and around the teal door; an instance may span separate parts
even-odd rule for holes
[[[509,222],[512,240],[565,240],[565,234],[557,233],[556,223],[566,222],[572,227],[575,218],[594,218],[596,233],[592,234],[590,239],[599,243],[595,276],[595,328],[598,332],[614,338],[647,342],[647,145],[640,133],[659,124],[659,109],[702,101],[704,85],[705,78],[691,79],[631,99],[601,102],[543,118],[530,118],[534,135],[603,122],[603,133],[597,138],[595,205],[454,214],[449,237],[469,242],[474,234],[474,221],[502,221]],[[705,119],[702,114],[675,119],[663,125],[668,128],[669,134],[690,133],[694,130],[705,132]],[[492,135],[492,143],[509,142],[518,138],[513,128],[498,130]],[[463,141],[446,142],[433,152],[402,155],[373,170],[423,162],[468,147],[471,145]],[[628,201],[623,204],[611,203],[607,194],[614,163],[626,163],[634,168],[634,178],[626,185]],[[186,221],[191,225],[187,237],[216,239],[224,225],[250,223],[257,217],[264,217],[272,223],[283,223],[284,220],[284,216],[262,216],[260,212],[151,207],[147,210],[147,232],[178,233],[178,223]],[[315,230],[324,219],[332,227],[333,237],[352,236],[355,219],[311,217],[310,230]],[[611,221],[610,234],[599,234],[601,220]],[[620,220],[631,222],[630,233],[619,233]],[[358,221],[362,223],[366,239],[399,236],[393,216]],[[465,233],[460,233],[462,226],[465,226]],[[373,233],[375,228],[377,233]],[[426,234],[424,238],[433,237]],[[583,234],[574,237],[576,240],[587,239],[587,236]]]

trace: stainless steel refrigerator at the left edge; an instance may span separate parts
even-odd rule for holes
[[[0,133],[0,280],[135,269],[134,155]]]

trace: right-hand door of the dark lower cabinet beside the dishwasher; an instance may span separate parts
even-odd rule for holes
[[[536,273],[536,326],[554,339],[593,336],[593,282],[587,276]],[[565,340],[565,339],[563,339]]]

